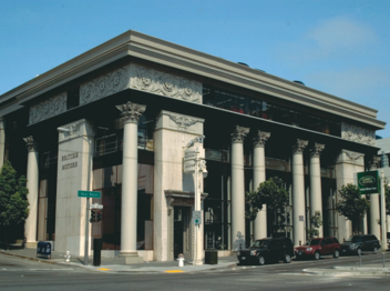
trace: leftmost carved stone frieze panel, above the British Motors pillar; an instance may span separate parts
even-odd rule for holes
[[[53,98],[49,98],[38,104],[30,107],[29,123],[34,124],[39,121],[55,117],[66,111],[66,92]]]

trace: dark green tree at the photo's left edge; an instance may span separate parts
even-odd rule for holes
[[[29,215],[29,201],[24,175],[19,179],[17,171],[6,161],[0,173],[0,228],[3,233],[6,248],[10,230],[24,223]]]

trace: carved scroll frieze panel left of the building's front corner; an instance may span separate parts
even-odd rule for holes
[[[86,104],[129,88],[129,68],[122,67],[80,86],[80,104]]]

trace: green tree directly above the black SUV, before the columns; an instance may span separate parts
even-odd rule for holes
[[[271,223],[271,233],[285,229],[286,225],[286,204],[288,202],[288,192],[281,179],[275,177],[259,184],[256,191],[246,193],[249,210],[246,217],[255,220],[259,210],[267,204],[267,211],[274,213],[274,223]]]

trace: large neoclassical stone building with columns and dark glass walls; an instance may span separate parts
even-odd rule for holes
[[[290,193],[274,235],[305,242],[318,210],[320,235],[348,238],[337,190],[369,168],[386,124],[374,109],[135,31],[2,94],[0,116],[1,162],[28,175],[30,245],[82,255],[90,213],[78,191],[96,190],[90,241],[102,238],[105,257],[157,261],[195,252],[183,154],[197,137],[208,174],[196,240],[226,255],[271,234],[275,213],[245,218],[245,192],[271,177]]]

